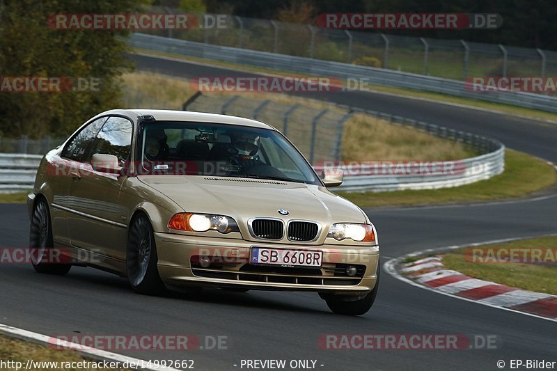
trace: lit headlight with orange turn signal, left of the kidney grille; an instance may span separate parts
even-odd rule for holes
[[[240,232],[236,221],[230,216],[191,212],[175,214],[168,222],[168,228],[187,232],[207,232],[207,230],[217,230],[221,233]]]

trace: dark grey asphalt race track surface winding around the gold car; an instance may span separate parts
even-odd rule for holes
[[[185,77],[222,72],[153,58],[136,61],[140,69]],[[487,134],[510,148],[557,161],[557,128],[551,124],[370,93],[329,98]],[[424,248],[555,233],[556,210],[557,196],[547,196],[366,212],[377,226],[385,262]],[[1,205],[0,221],[0,246],[27,246],[24,205]],[[422,290],[385,272],[370,312],[345,317],[330,313],[311,293],[205,290],[144,297],[131,292],[123,278],[94,269],[74,267],[68,276],[58,277],[36,274],[29,265],[2,265],[0,323],[46,335],[226,336],[228,349],[119,352],[147,360],[193,359],[196,370],[242,370],[242,359],[266,358],[312,359],[317,361],[316,370],[499,370],[499,360],[505,361],[504,370],[510,370],[511,359],[557,361],[555,322]],[[317,345],[322,334],[354,333],[494,335],[498,340],[496,349],[429,351],[339,351]]]

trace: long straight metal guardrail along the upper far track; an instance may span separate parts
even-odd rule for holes
[[[441,77],[432,77],[423,74],[364,67],[361,65],[323,61],[300,56],[258,52],[235,47],[223,47],[205,44],[203,42],[164,38],[143,33],[132,34],[128,40],[128,44],[132,47],[146,49],[152,52],[191,56],[210,61],[237,63],[240,65],[295,74],[335,77],[345,81],[347,81],[347,79],[365,79],[367,84],[426,90],[434,93],[455,95],[457,97],[487,100],[490,102],[557,112],[556,97],[523,92],[478,92],[466,88],[466,83],[464,83],[464,81],[443,79]]]

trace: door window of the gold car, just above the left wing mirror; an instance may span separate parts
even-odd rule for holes
[[[127,118],[113,116],[103,125],[93,143],[91,152],[86,155],[86,161],[97,153],[114,155],[120,162],[130,158],[132,150],[133,125]]]

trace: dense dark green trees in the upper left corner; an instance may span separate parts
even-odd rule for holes
[[[100,90],[0,93],[0,135],[66,135],[120,104],[129,31],[56,29],[56,14],[133,13],[146,0],[0,0],[0,77],[98,79]]]

